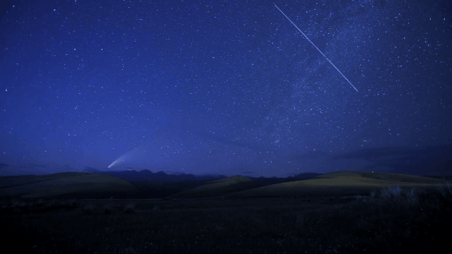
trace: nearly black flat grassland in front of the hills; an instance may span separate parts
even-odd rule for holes
[[[0,200],[1,253],[447,253],[451,188],[354,198]]]

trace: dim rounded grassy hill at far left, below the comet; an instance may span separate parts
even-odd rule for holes
[[[9,185],[7,179],[10,180]],[[105,174],[66,172],[44,176],[6,176],[2,180],[0,197],[125,198],[127,193],[136,192],[131,183]]]

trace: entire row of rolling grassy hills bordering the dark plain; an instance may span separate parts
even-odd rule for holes
[[[0,177],[0,198],[256,198],[370,195],[386,186],[434,189],[451,182],[405,174],[339,171],[302,181],[264,186],[244,176],[204,182],[129,183],[107,174],[65,172],[43,176]]]

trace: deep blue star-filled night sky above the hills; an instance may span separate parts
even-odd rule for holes
[[[452,138],[448,1],[23,0],[1,15],[0,162],[18,174],[124,154],[112,170],[400,171],[360,155]]]

